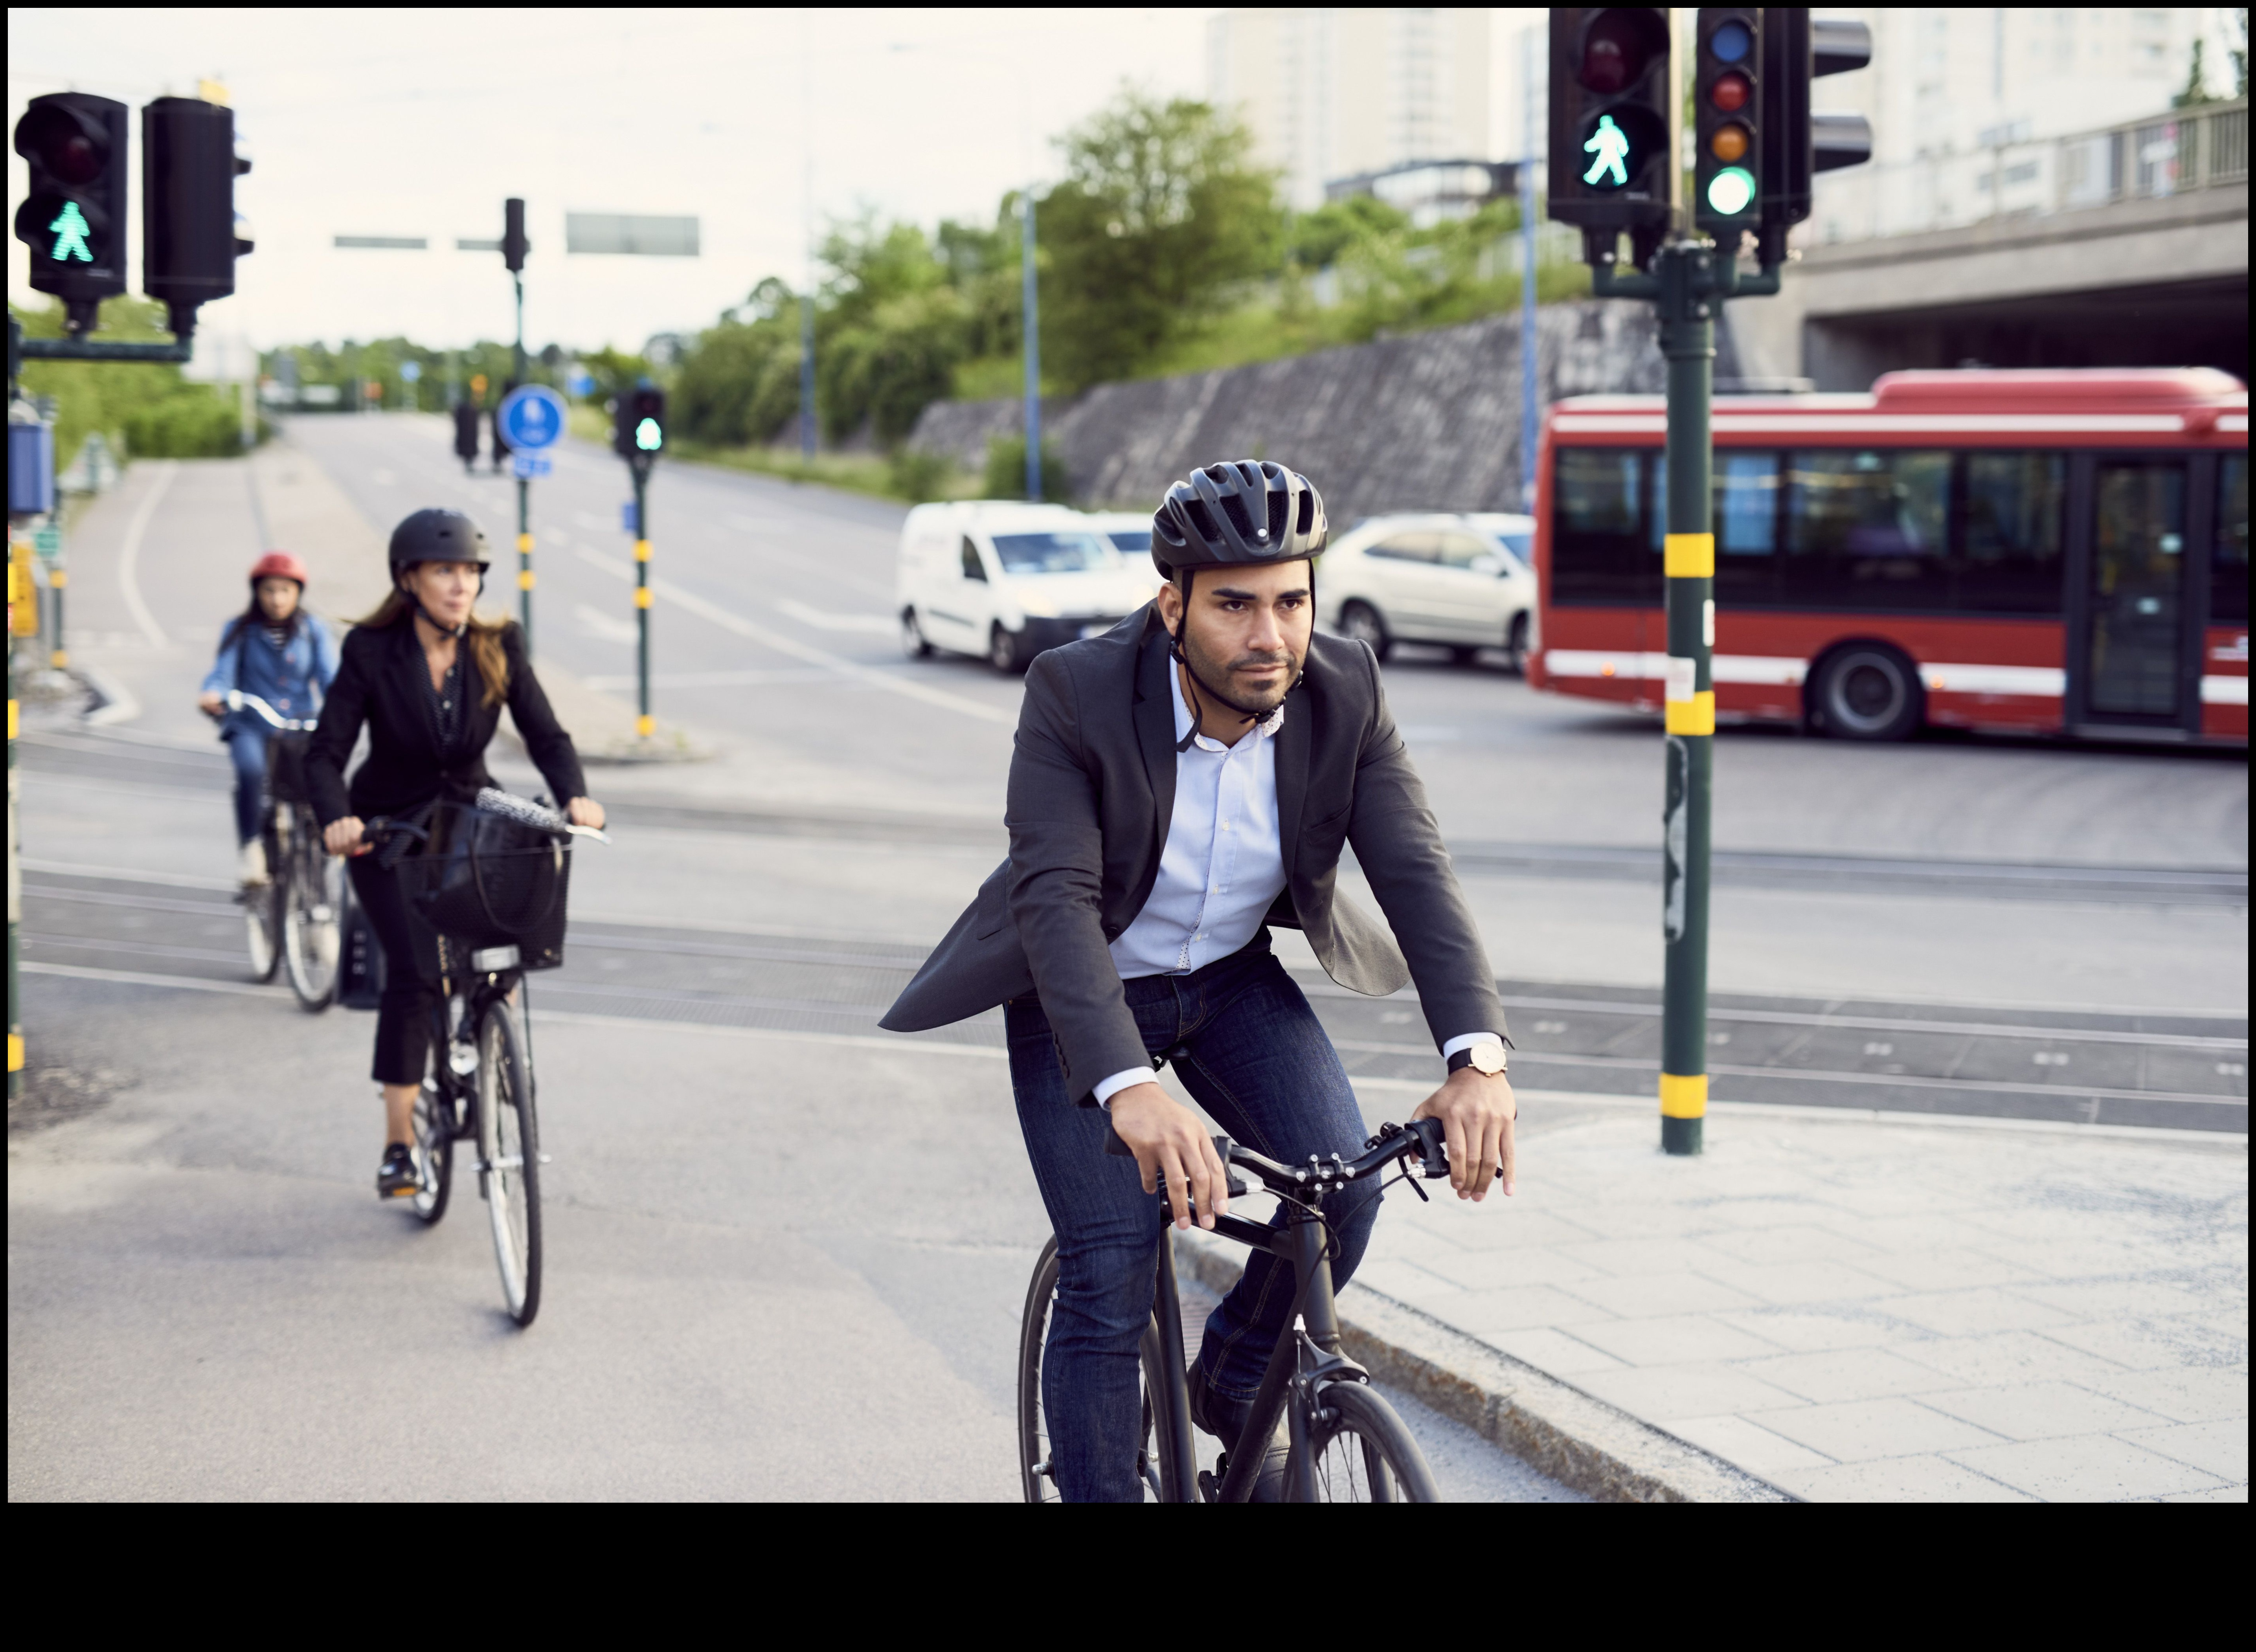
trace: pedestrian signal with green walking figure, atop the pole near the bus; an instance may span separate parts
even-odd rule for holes
[[[1669,223],[1667,7],[1552,7],[1550,217],[1611,264],[1631,232],[1645,264]]]

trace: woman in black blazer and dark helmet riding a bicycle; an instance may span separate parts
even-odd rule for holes
[[[566,799],[575,826],[602,826],[587,797],[580,756],[557,724],[514,621],[472,614],[485,585],[485,535],[460,510],[417,510],[393,530],[393,594],[345,636],[343,664],[320,709],[305,772],[332,855],[352,860],[352,889],[384,941],[384,1004],[377,1011],[374,1077],[384,1086],[381,1198],[415,1192],[415,1095],[424,1081],[438,1002],[438,955],[408,921],[395,873],[361,844],[365,815],[404,815],[433,799],[469,803],[485,747],[510,709],[517,731]],[[345,761],[368,724],[368,761],[345,788]]]

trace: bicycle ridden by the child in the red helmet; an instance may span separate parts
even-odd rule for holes
[[[345,862],[320,846],[320,819],[305,785],[305,747],[314,718],[284,718],[257,695],[228,691],[228,711],[250,711],[273,733],[266,738],[266,882],[244,889],[250,941],[250,979],[289,975],[298,1002],[320,1013],[336,1002],[336,964],[345,925]]]

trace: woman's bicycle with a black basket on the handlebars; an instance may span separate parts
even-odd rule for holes
[[[363,837],[438,937],[442,998],[415,1097],[411,1207],[438,1225],[453,1198],[453,1144],[476,1142],[478,1196],[510,1318],[541,1311],[541,1153],[526,970],[564,961],[571,844],[611,842],[555,810],[494,788],[478,803],[431,803],[372,819]],[[395,964],[397,968],[397,964]]]

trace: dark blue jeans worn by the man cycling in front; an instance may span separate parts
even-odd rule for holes
[[[1189,975],[1121,982],[1144,1047],[1171,1054],[1182,1086],[1234,1140],[1270,1158],[1363,1151],[1367,1131],[1331,1038],[1268,932]],[[1105,1115],[1067,1095],[1040,1002],[1004,1007],[1011,1090],[1033,1178],[1058,1234],[1058,1302],[1042,1350],[1049,1458],[1067,1503],[1133,1503],[1142,1433],[1139,1343],[1157,1289],[1166,1201],[1146,1194],[1133,1158],[1105,1153]],[[1345,1286],[1378,1219],[1372,1185],[1331,1210]],[[1281,1216],[1279,1216],[1281,1221]],[[1218,1395],[1252,1399],[1293,1311],[1293,1268],[1257,1253],[1207,1318],[1198,1372]]]

